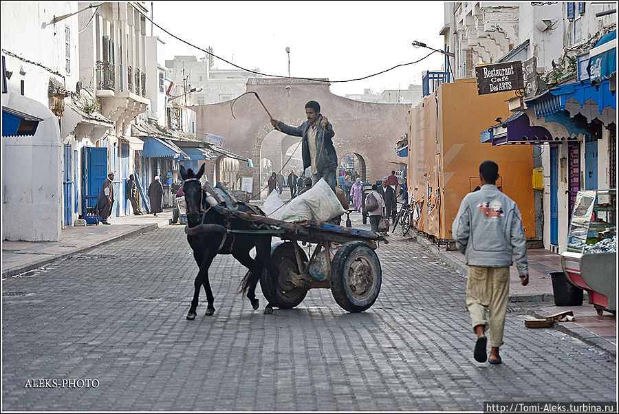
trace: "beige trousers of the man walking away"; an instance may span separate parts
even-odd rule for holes
[[[490,347],[503,345],[503,327],[510,292],[510,268],[468,267],[466,307],[473,323],[484,325]],[[488,318],[486,318],[488,309]]]

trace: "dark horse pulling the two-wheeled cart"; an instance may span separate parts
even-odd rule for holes
[[[217,213],[213,207],[213,198],[208,197],[199,182],[204,173],[204,165],[197,174],[190,169],[185,170],[181,166],[180,173],[184,179],[183,192],[187,213],[186,229],[187,241],[193,250],[199,272],[193,283],[193,300],[187,314],[187,319],[193,320],[196,316],[200,287],[204,286],[206,292],[206,316],[215,313],[213,306],[213,292],[210,290],[208,281],[208,268],[213,263],[217,253],[232,254],[241,265],[248,268],[248,272],[241,280],[239,293],[246,293],[252,307],[258,309],[259,303],[256,298],[256,285],[260,279],[263,268],[270,272],[277,272],[277,268],[271,261],[271,236],[263,234],[243,234],[242,232],[230,232],[229,230],[250,230],[250,222],[239,218],[229,219],[221,213]],[[210,202],[209,202],[210,199]],[[254,213],[245,204],[238,204],[238,210],[246,213]],[[256,248],[256,259],[250,257],[250,250]],[[276,274],[276,273],[274,273]],[[271,314],[273,307],[268,304],[264,309],[265,314]]]

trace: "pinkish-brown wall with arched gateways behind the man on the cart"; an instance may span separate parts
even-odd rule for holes
[[[260,96],[273,118],[295,127],[305,121],[305,103],[316,100],[321,105],[323,116],[327,116],[333,124],[333,143],[338,158],[346,153],[358,154],[365,160],[367,179],[370,181],[391,171],[389,161],[396,159],[395,142],[406,133],[409,105],[343,98],[331,93],[328,80],[251,78],[248,79],[247,90],[255,91]],[[261,148],[273,127],[253,95],[237,100],[236,119],[232,118],[230,104],[231,101],[191,107],[197,115],[197,133],[198,136],[204,136],[204,133],[222,135],[224,148],[252,159],[254,168],[241,163],[241,176],[253,177],[256,198],[261,189]],[[280,151],[285,151],[283,147],[294,142],[292,137],[285,136],[279,140]],[[273,162],[273,166],[277,164],[281,168],[282,162]],[[285,169],[282,173],[287,175]]]

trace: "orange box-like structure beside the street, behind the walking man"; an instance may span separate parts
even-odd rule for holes
[[[499,164],[497,186],[516,201],[525,235],[535,237],[533,157],[528,145],[491,146],[480,133],[510,116],[514,91],[477,95],[475,79],[444,83],[411,109],[409,194],[424,201],[417,229],[452,239],[451,226],[467,193],[479,186],[479,164]]]

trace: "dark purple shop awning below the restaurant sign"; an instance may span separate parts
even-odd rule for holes
[[[492,145],[526,144],[553,141],[552,134],[543,127],[532,127],[524,112],[512,116],[492,127]]]

